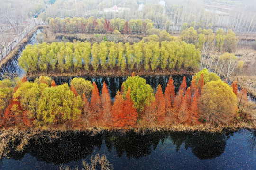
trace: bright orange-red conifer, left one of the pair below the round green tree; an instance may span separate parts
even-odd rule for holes
[[[124,99],[118,90],[115,97],[115,102],[112,106],[112,120],[113,120],[113,125],[115,127],[125,126],[124,119],[126,118],[126,116],[123,110],[124,110]]]

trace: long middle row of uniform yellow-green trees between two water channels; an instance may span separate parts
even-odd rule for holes
[[[196,70],[201,59],[200,51],[193,44],[183,41],[149,41],[131,45],[129,42],[53,42],[38,45],[27,45],[18,59],[19,65],[28,73],[47,72],[49,68],[61,72],[79,72],[84,67],[89,71],[92,65],[94,71],[99,65],[106,72],[108,68],[119,66],[124,72],[144,68],[145,71],[157,68]]]

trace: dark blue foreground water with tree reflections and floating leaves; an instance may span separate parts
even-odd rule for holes
[[[82,160],[105,154],[115,170],[255,170],[256,131],[231,134],[154,132],[62,134],[30,142],[22,153],[3,158],[1,170],[82,169]]]

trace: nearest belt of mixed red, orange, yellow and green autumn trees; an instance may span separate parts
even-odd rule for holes
[[[229,86],[207,69],[194,75],[188,88],[184,77],[176,94],[171,77],[164,93],[158,85],[154,94],[145,79],[133,74],[111,101],[105,82],[100,95],[95,82],[83,78],[69,86],[40,76],[34,82],[24,77],[0,81],[0,100],[0,127],[22,128],[230,124],[245,118],[248,104],[246,90],[238,91],[236,81]]]

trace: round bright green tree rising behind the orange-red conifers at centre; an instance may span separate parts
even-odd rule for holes
[[[129,87],[131,88],[131,99],[138,112],[141,112],[146,104],[154,100],[153,90],[150,85],[146,84],[144,78],[139,76],[128,77],[124,83],[125,95]]]

